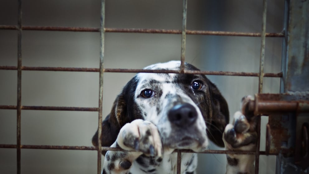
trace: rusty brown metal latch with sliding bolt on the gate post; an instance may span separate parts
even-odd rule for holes
[[[248,103],[256,115],[269,116],[266,154],[294,157],[303,169],[309,166],[309,94],[256,94]]]

